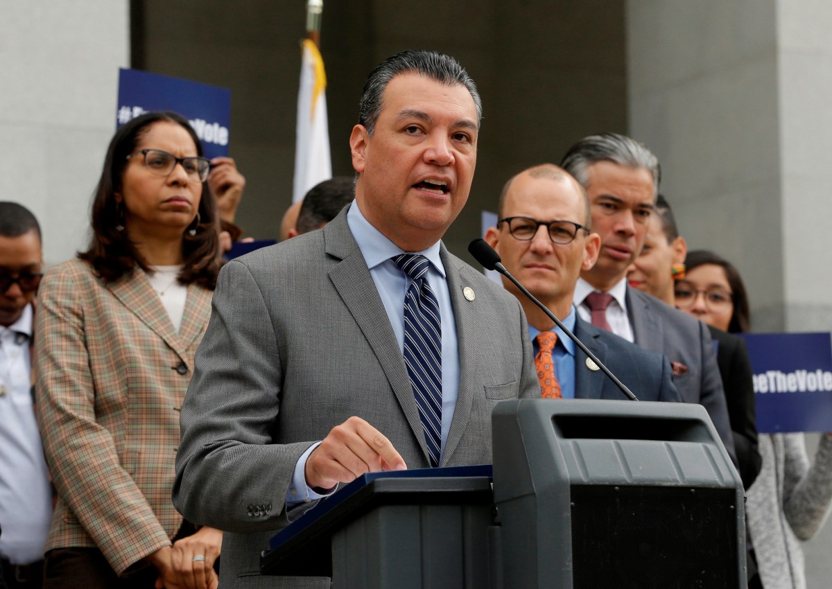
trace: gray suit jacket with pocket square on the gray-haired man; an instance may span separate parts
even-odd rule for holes
[[[699,403],[706,408],[736,465],[726,395],[706,324],[629,285],[626,287],[626,306],[636,344],[661,352],[671,362],[684,366],[684,373],[673,378],[682,401]]]

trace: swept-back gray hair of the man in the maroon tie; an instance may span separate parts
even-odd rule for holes
[[[644,168],[653,177],[654,196],[658,194],[661,181],[658,158],[641,141],[618,133],[600,133],[584,137],[569,148],[561,160],[561,167],[575,176],[581,186],[588,189],[587,168],[599,161],[612,161],[635,169]]]

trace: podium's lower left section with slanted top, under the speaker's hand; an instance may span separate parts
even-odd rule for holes
[[[276,534],[261,570],[332,577],[334,589],[487,589],[491,473],[483,465],[365,474]]]

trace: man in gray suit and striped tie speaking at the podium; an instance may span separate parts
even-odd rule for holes
[[[468,198],[480,115],[453,58],[390,57],[370,74],[350,136],[354,202],[220,272],[173,497],[189,520],[226,531],[223,587],[329,587],[259,577],[260,551],[363,473],[490,463],[494,406],[537,396],[518,301],[440,241]],[[428,310],[417,317],[411,303]],[[424,359],[414,324],[428,319],[441,329],[441,341],[423,333],[441,346],[439,398],[411,379]]]

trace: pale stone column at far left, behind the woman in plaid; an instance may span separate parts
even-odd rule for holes
[[[47,264],[87,244],[90,197],[129,65],[129,2],[2,4],[0,200],[37,216]]]

